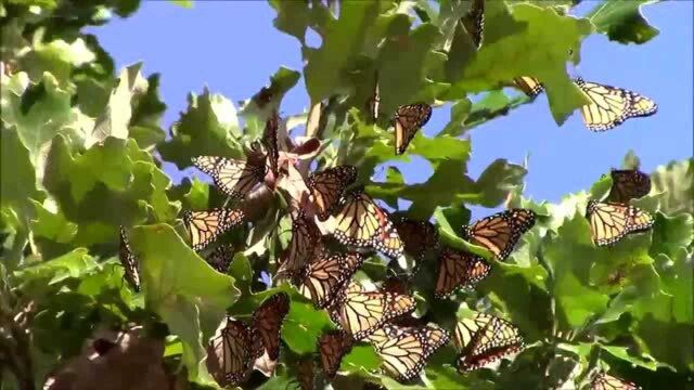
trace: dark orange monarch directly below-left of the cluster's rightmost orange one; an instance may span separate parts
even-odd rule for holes
[[[444,247],[438,259],[437,298],[450,296],[459,287],[473,287],[489,275],[485,259],[463,250]]]

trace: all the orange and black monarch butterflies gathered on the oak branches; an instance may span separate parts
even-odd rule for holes
[[[473,0],[460,24],[476,48],[484,44],[484,15],[485,1]],[[590,101],[581,107],[581,114],[592,131],[605,131],[657,110],[652,100],[635,92],[580,78],[574,82]],[[540,80],[530,76],[515,78],[512,83],[530,98],[544,90]],[[376,75],[369,101],[374,121],[380,118],[380,105]],[[396,155],[408,151],[432,113],[432,106],[423,102],[395,110],[389,125]],[[193,165],[208,174],[235,207],[187,210],[182,217],[191,247],[206,252],[207,262],[223,273],[239,248],[218,245],[210,250],[210,244],[221,234],[252,222],[244,207],[252,193],[259,188],[281,190],[288,205],[292,235],[277,257],[275,281],[292,285],[317,309],[325,311],[335,325],[335,329],[316,340],[316,356],[296,364],[301,389],[313,388],[314,361],[331,381],[339,372],[343,358],[359,343],[373,346],[385,373],[400,382],[419,377],[430,356],[449,342],[458,350],[454,364],[461,373],[488,366],[524,349],[520,329],[501,316],[473,311],[457,318],[450,329],[444,329],[424,316],[413,315],[416,302],[411,280],[389,278],[373,286],[355,275],[374,253],[390,260],[404,256],[415,262],[410,276],[420,268],[432,265],[434,277],[427,287],[435,299],[449,299],[461,289],[475,288],[492,272],[494,262],[512,256],[523,235],[536,224],[538,216],[532,210],[512,208],[460,226],[457,233],[463,239],[493,255],[493,259],[485,259],[442,243],[437,226],[429,221],[391,216],[358,183],[357,167],[338,165],[313,171],[301,168],[296,157],[299,147],[293,147],[288,138],[279,136],[281,118],[273,112],[261,139],[245,151],[245,158],[194,157]],[[613,186],[607,197],[591,199],[586,208],[597,246],[614,245],[627,235],[647,231],[654,223],[646,211],[629,205],[631,199],[650,192],[650,178],[638,170],[613,170],[611,177]],[[139,264],[123,227],[120,242],[125,277],[140,290]],[[265,299],[248,322],[232,316],[222,321],[209,340],[206,360],[220,386],[246,382],[262,359],[278,361],[282,324],[290,307],[290,296],[280,292]],[[591,388],[637,389],[606,373],[595,375]]]

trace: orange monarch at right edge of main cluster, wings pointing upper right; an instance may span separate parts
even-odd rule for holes
[[[520,236],[535,225],[535,212],[528,209],[502,211],[463,227],[463,238],[486,247],[503,260]]]

